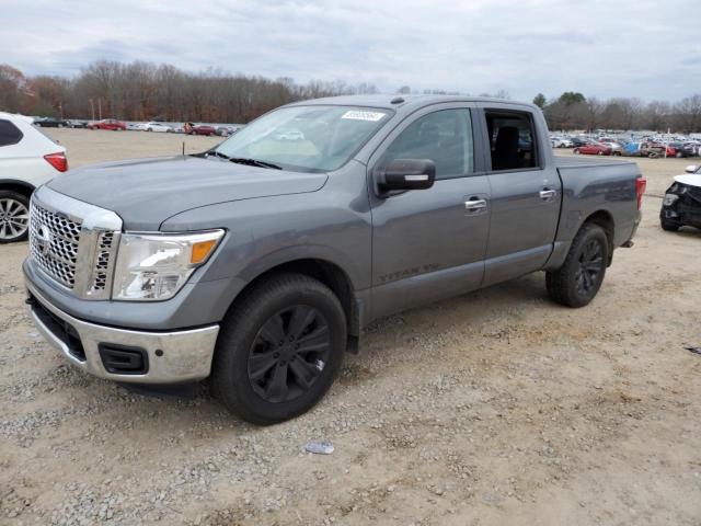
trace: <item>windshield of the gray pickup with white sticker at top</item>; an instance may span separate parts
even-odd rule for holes
[[[390,110],[292,106],[268,113],[219,145],[214,152],[286,170],[336,170],[390,118]]]

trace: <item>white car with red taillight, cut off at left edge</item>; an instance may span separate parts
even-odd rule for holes
[[[26,238],[32,192],[68,170],[66,148],[32,121],[0,112],[0,243]]]

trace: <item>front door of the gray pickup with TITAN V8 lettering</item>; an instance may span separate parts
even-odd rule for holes
[[[475,158],[472,121],[470,104],[424,107],[370,158],[374,317],[482,284],[490,190]],[[433,187],[378,195],[372,173],[395,159],[433,160]]]

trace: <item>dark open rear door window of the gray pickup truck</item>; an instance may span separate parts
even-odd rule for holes
[[[539,167],[531,114],[487,110],[485,117],[493,171]]]

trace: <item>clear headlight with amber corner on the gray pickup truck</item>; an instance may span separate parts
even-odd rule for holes
[[[172,298],[215,251],[223,230],[160,235],[124,233],[115,265],[113,299]]]

